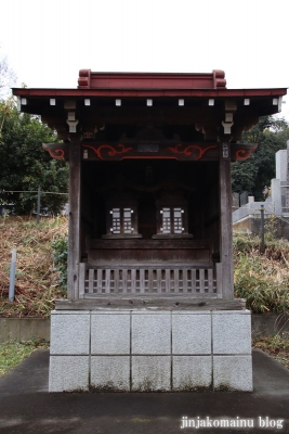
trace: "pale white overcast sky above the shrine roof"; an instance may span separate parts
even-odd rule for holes
[[[76,88],[81,68],[223,69],[231,89],[287,88],[288,16],[288,0],[2,0],[0,47],[31,88]]]

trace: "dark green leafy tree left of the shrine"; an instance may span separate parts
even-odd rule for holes
[[[17,214],[29,214],[37,202],[36,193],[4,191],[37,191],[66,193],[68,165],[52,159],[42,143],[55,142],[56,135],[41,124],[38,116],[17,112],[15,101],[0,102],[0,201],[13,204]],[[66,195],[41,193],[41,208],[60,213]]]

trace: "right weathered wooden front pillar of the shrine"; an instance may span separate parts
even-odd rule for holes
[[[222,264],[222,298],[234,298],[232,180],[229,143],[220,149],[220,261]]]

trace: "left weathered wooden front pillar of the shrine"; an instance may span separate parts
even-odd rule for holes
[[[79,298],[80,263],[80,187],[81,157],[80,142],[69,143],[69,226],[68,226],[68,266],[67,298]]]

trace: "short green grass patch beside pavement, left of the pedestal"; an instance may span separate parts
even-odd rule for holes
[[[49,343],[44,340],[10,341],[0,344],[0,376],[30,356],[36,349],[45,348],[49,348]]]

